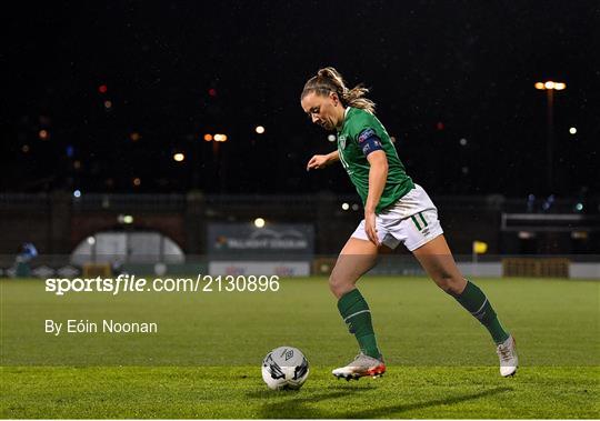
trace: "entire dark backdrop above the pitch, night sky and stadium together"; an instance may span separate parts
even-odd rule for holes
[[[13,16],[0,275],[26,242],[37,277],[241,273],[227,262],[251,254],[327,272],[362,211],[339,168],[304,171],[336,139],[298,97],[336,66],[372,88],[467,272],[600,278],[597,2],[64,1]],[[316,39],[316,16],[339,19]],[[418,270],[399,254],[379,270]]]

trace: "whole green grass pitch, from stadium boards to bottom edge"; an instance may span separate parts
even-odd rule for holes
[[[487,331],[422,278],[367,278],[388,373],[337,381],[356,353],[322,278],[270,293],[72,293],[0,281],[2,418],[600,418],[600,283],[482,279],[521,368],[500,378]],[[154,335],[43,333],[44,319],[149,320]],[[297,392],[260,377],[272,348],[311,367]]]

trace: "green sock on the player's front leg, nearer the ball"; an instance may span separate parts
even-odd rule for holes
[[[360,350],[369,357],[379,358],[381,352],[377,348],[371,310],[360,291],[353,289],[343,294],[338,301],[338,310],[350,333],[357,338]]]

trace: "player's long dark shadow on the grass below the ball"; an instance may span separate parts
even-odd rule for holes
[[[396,418],[398,417],[398,414],[402,412],[426,409],[426,408],[431,408],[431,407],[439,407],[439,405],[451,405],[451,404],[461,403],[466,401],[477,400],[484,397],[490,397],[490,395],[512,391],[512,388],[507,388],[507,387],[494,388],[494,389],[486,390],[478,393],[463,394],[463,395],[447,398],[447,399],[436,399],[436,400],[429,400],[424,402],[414,402],[414,403],[409,403],[409,404],[387,405],[387,407],[377,407],[377,404],[374,404],[374,408],[369,408],[369,409],[358,410],[358,411],[356,410],[348,411],[346,401],[340,402],[339,404],[340,408],[337,411],[323,410],[323,409],[310,407],[310,404],[320,402],[323,400],[347,398],[349,393],[364,392],[364,391],[370,391],[370,390],[371,388],[369,389],[348,388],[348,389],[344,389],[343,391],[317,393],[317,394],[312,394],[311,397],[307,397],[302,399],[278,400],[277,402],[266,403],[261,408],[260,413],[258,415],[259,418],[264,418],[264,419],[268,419],[268,418],[372,419],[372,418],[391,418],[391,417]],[[289,394],[289,395],[293,397],[293,394]]]

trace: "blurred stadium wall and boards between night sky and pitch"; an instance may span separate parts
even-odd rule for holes
[[[577,201],[433,199],[468,275],[600,279],[600,217],[581,212]],[[39,252],[23,275],[39,278],[327,274],[361,209],[354,196],[332,193],[2,194],[1,274],[17,274],[16,244],[23,239]],[[398,250],[373,273],[422,272]]]

